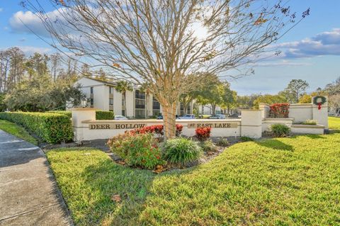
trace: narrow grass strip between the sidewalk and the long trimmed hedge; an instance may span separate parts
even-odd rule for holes
[[[33,145],[38,145],[38,140],[30,135],[24,128],[16,123],[8,122],[7,120],[0,120],[0,130],[10,133],[13,136],[19,137],[23,140],[31,142]]]

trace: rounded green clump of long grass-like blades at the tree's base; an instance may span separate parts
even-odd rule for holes
[[[172,164],[184,165],[200,158],[201,149],[196,142],[186,138],[167,140],[163,146],[164,159]]]

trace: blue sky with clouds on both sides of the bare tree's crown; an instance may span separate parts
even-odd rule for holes
[[[28,32],[19,18],[39,28],[31,15],[16,0],[0,0],[0,49],[18,46],[32,52],[51,53],[46,43]],[[39,0],[49,11],[47,0]],[[310,90],[324,87],[340,77],[340,1],[290,0],[293,11],[310,7],[310,16],[278,41],[283,55],[255,66],[255,74],[232,80],[238,94],[276,94],[291,79],[304,79]],[[51,9],[52,10],[52,9]]]

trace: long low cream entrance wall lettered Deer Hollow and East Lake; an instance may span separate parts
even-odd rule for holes
[[[212,137],[260,138],[262,132],[277,123],[288,125],[296,133],[323,134],[324,128],[328,128],[327,101],[318,108],[313,103],[293,104],[289,108],[289,118],[268,118],[269,106],[261,103],[259,110],[242,110],[241,118],[237,119],[176,120],[176,123],[183,125],[182,134],[188,137],[195,135],[196,128],[210,127]],[[317,120],[318,125],[295,125],[308,119]],[[75,141],[108,139],[126,130],[160,124],[163,120],[96,120],[94,108],[72,109]]]

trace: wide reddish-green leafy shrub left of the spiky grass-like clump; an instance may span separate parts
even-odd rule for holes
[[[125,160],[130,166],[141,166],[154,169],[165,162],[161,159],[162,153],[157,141],[149,132],[132,134],[125,132],[108,140],[108,147],[115,154]]]

